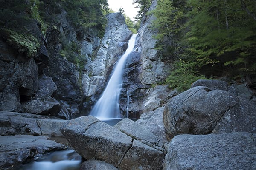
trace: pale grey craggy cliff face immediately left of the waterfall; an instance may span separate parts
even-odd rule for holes
[[[105,35],[94,54],[88,54],[88,62],[84,65],[82,76],[82,90],[85,99],[79,108],[84,115],[88,115],[93,103],[105,88],[114,64],[128,48],[128,40],[132,33],[125,24],[122,13],[107,15],[108,23]]]

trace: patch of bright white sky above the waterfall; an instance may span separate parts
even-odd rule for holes
[[[108,0],[108,5],[109,8],[113,9],[115,12],[118,12],[119,8],[123,8],[125,14],[134,21],[134,17],[136,17],[139,8],[135,8],[136,4],[132,4],[132,1],[133,0]]]

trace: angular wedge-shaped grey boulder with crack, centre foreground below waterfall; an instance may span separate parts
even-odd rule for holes
[[[124,121],[130,122],[128,119]],[[149,131],[147,134],[150,135],[139,136],[138,131],[131,133],[126,126],[117,126],[129,136],[93,116],[82,116],[70,120],[62,127],[61,132],[85,159],[105,161],[120,170],[148,168],[160,170],[164,154],[161,150],[150,147],[152,143],[157,142],[156,136]],[[140,141],[137,140],[138,138]]]

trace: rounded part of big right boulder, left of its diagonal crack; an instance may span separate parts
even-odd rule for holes
[[[170,136],[180,133],[208,134],[239,98],[227,91],[204,86],[190,88],[166,104],[163,123]]]

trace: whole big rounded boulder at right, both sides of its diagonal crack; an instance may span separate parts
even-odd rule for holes
[[[209,134],[214,129],[214,133],[253,133],[255,112],[256,106],[250,100],[227,91],[196,86],[170,99],[163,113],[163,122],[172,137],[182,133]]]

